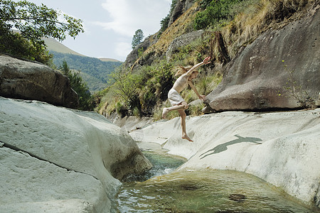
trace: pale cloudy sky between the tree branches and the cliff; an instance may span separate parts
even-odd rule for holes
[[[142,29],[144,38],[159,31],[169,13],[171,0],[28,0],[37,5],[82,19],[85,33],[62,43],[71,50],[94,58],[124,62],[132,50],[132,38]]]

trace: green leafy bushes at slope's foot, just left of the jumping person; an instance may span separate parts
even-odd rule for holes
[[[135,114],[147,116],[154,112],[154,107],[160,106],[167,99],[169,89],[174,84],[173,65],[166,61],[151,66],[144,66],[141,70],[132,72],[119,67],[110,75],[107,93],[103,94],[102,102],[107,102],[107,113],[119,111],[122,115]],[[103,104],[100,104],[98,111]],[[105,106],[106,108],[108,106]]]

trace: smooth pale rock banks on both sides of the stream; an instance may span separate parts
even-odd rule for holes
[[[0,98],[0,212],[113,212],[119,180],[151,168],[132,138],[186,158],[178,172],[249,173],[319,208],[320,109],[189,116],[194,142],[179,118],[129,121]]]

